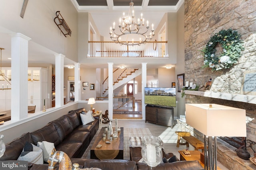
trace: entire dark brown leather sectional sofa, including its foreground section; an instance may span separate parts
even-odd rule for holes
[[[83,159],[81,156],[89,146],[99,129],[99,120],[82,125],[80,113],[84,108],[69,111],[66,115],[48,123],[46,126],[24,133],[6,145],[6,151],[0,160],[17,160],[26,142],[37,145],[38,142],[54,143],[56,150],[68,154],[72,163],[83,168],[100,168],[102,170],[150,170],[147,164],[132,160],[97,160]],[[139,154],[139,153],[138,153]],[[134,154],[134,156],[138,155]],[[177,161],[159,164],[156,170],[204,170],[198,161]],[[28,170],[48,170],[48,163],[32,164],[28,162]],[[58,170],[58,167],[57,167]]]

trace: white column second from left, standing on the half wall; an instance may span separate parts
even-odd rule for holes
[[[64,105],[64,57],[55,55],[55,107]]]

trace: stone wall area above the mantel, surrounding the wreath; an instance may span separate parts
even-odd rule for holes
[[[244,72],[256,72],[255,9],[254,0],[185,0],[185,81],[203,85],[212,78],[211,91],[240,94]],[[244,41],[238,64],[216,72],[202,68],[200,50],[214,33],[229,28],[238,31]]]

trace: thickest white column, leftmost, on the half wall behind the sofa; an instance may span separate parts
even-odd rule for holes
[[[12,34],[12,120],[20,120],[28,116],[28,41],[30,39],[21,33]]]

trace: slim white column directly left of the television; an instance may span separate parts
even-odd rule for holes
[[[142,73],[141,73],[141,92],[142,92],[142,120],[146,120],[146,104],[144,104],[145,102],[145,92],[144,92],[144,88],[147,86],[147,63],[141,63],[142,65]]]

